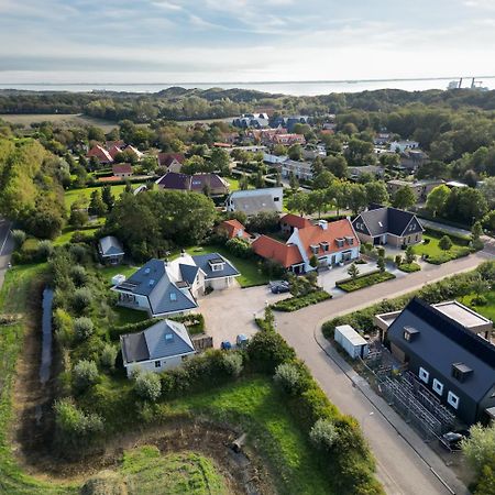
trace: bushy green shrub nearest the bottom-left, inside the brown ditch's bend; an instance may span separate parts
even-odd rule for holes
[[[70,455],[74,449],[87,447],[103,431],[103,420],[95,414],[85,414],[70,399],[55,402],[55,427],[61,452]]]

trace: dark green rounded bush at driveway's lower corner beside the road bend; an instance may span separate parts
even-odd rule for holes
[[[275,369],[296,358],[296,352],[276,332],[257,332],[248,344],[248,355],[257,371],[273,374]]]

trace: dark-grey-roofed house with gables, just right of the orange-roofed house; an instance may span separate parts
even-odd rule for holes
[[[417,244],[422,240],[424,228],[414,213],[392,207],[371,206],[353,221],[361,242],[373,245],[389,244],[395,248]]]

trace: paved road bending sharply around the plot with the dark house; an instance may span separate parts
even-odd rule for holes
[[[278,331],[307,363],[330,400],[361,422],[377,460],[378,477],[388,494],[448,494],[448,490],[433,475],[430,466],[455,493],[466,493],[466,490],[442,460],[426,447],[388,406],[383,404],[380,410],[388,408],[387,416],[394,419],[402,435],[397,433],[359,387],[353,386],[349,375],[318,344],[317,340],[322,341],[321,324],[330,318],[370,306],[384,298],[396,297],[446,276],[473,270],[491,257],[493,255],[487,252],[479,252],[440,266],[427,265],[421,272],[407,277],[358,290],[293,314],[276,315]]]

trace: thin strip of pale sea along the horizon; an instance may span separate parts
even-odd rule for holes
[[[459,82],[461,77],[417,78],[417,79],[369,79],[369,80],[314,80],[314,81],[265,81],[265,82],[142,82],[142,84],[101,84],[101,82],[75,82],[51,84],[32,82],[14,84],[1,82],[0,89],[20,89],[31,91],[123,91],[152,94],[163,89],[180,86],[186,89],[209,88],[240,88],[254,89],[270,94],[283,94],[294,96],[328,95],[331,92],[360,92],[376,89],[403,89],[406,91],[424,91],[427,89],[447,89],[452,81]],[[469,88],[473,78],[463,77],[462,88]],[[477,89],[495,89],[495,76],[475,77],[474,87]]]

